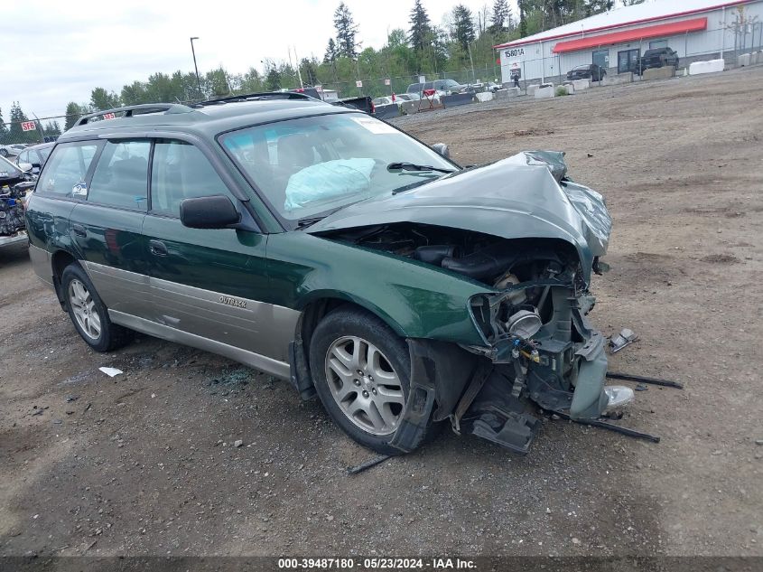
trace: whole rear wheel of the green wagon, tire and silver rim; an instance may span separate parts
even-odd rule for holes
[[[63,269],[60,284],[71,323],[93,350],[111,352],[132,340],[131,330],[111,323],[106,305],[79,264]]]

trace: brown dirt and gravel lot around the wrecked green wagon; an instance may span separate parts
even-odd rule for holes
[[[524,458],[446,434],[349,477],[370,454],[283,382],[146,337],[89,352],[15,248],[0,555],[763,556],[763,67],[399,121],[461,164],[563,149],[607,196],[592,317],[641,336],[613,370],[686,383],[624,419],[662,442],[548,421]]]

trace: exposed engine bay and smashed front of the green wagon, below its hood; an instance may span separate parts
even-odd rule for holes
[[[595,419],[608,407],[602,390],[605,340],[587,321],[595,300],[569,243],[500,239],[408,222],[345,230],[331,238],[441,267],[498,291],[471,300],[489,350],[463,348],[492,363],[474,399],[480,409],[470,408],[462,419],[480,436],[526,452],[536,418],[524,413],[523,398],[547,410],[569,411],[573,418]],[[505,431],[509,418],[513,423]],[[509,435],[517,428],[519,435]]]

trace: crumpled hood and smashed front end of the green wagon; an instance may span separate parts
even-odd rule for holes
[[[481,342],[408,340],[410,396],[391,445],[413,450],[426,423],[450,418],[457,433],[525,454],[539,421],[530,401],[595,422],[632,399],[605,387],[606,340],[588,319],[611,220],[599,193],[567,178],[562,153],[522,153],[404,196],[403,207],[375,203],[376,224],[353,226],[371,217],[350,207],[321,231],[486,287],[467,302]]]

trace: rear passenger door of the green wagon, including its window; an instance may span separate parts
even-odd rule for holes
[[[70,238],[109,311],[148,317],[148,275],[141,228],[147,209],[148,139],[101,145],[92,173],[73,189]]]

